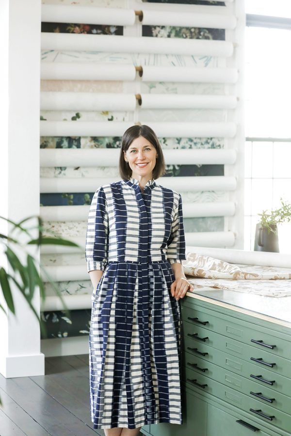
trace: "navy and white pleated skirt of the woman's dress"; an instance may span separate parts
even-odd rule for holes
[[[109,262],[92,295],[94,428],[182,423],[180,303],[169,262]]]

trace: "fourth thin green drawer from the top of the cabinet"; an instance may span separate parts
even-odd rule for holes
[[[193,356],[190,353],[183,353],[182,363],[197,374],[203,374],[228,386],[229,388],[248,395],[250,398],[259,400],[262,405],[272,405],[275,409],[281,410],[282,412],[291,413],[291,398],[279,392],[275,392],[274,389],[268,387],[261,388],[258,386],[258,383],[248,380],[247,378],[242,377],[242,375],[233,374],[218,365],[214,365],[213,363]],[[193,365],[196,365],[196,367]],[[253,394],[251,394],[251,392],[253,392]],[[260,394],[260,396],[265,399],[255,396],[254,393]]]

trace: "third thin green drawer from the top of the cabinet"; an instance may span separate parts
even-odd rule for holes
[[[279,374],[274,374],[271,371],[264,368],[262,368],[259,371],[257,365],[246,362],[245,360],[242,360],[241,358],[232,356],[230,354],[226,354],[226,352],[210,347],[209,345],[206,345],[206,343],[197,343],[197,341],[194,341],[190,337],[182,337],[182,348],[183,348],[183,353],[187,351],[188,353],[193,354],[194,356],[198,356],[199,358],[205,360],[206,362],[214,363],[215,365],[219,365],[222,368],[225,368],[235,374],[240,374],[243,377],[246,377],[247,379],[254,381],[255,383],[258,384],[259,386],[258,389],[263,389],[263,387],[268,387],[271,390],[280,392],[287,396],[291,396],[290,378],[283,377],[282,375]],[[194,349],[196,349],[196,351],[194,351]],[[203,356],[201,355],[201,353],[207,353],[207,354]],[[251,377],[251,374],[255,376],[260,375],[261,379],[269,383],[255,379]],[[275,381],[275,382],[273,384],[270,384],[271,381],[272,382]]]

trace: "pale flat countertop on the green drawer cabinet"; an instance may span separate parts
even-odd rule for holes
[[[291,296],[261,296],[210,287],[194,289],[187,296],[291,328]]]

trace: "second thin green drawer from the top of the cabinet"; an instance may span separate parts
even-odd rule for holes
[[[186,321],[183,322],[182,331],[184,336],[192,338],[195,343],[205,342],[211,347],[225,351],[228,354],[238,356],[244,360],[247,360],[248,362],[253,363],[258,367],[259,372],[262,369],[267,368],[274,374],[280,374],[288,378],[291,376],[291,360],[270,355],[270,353],[267,351],[258,350],[251,345],[230,339],[227,336],[223,336],[222,334],[207,330],[205,327],[199,327]],[[196,338],[194,335],[196,335]],[[254,358],[258,359],[258,361],[253,360]],[[261,361],[268,365],[259,363],[259,359],[262,359]],[[273,364],[273,367],[269,366]]]

